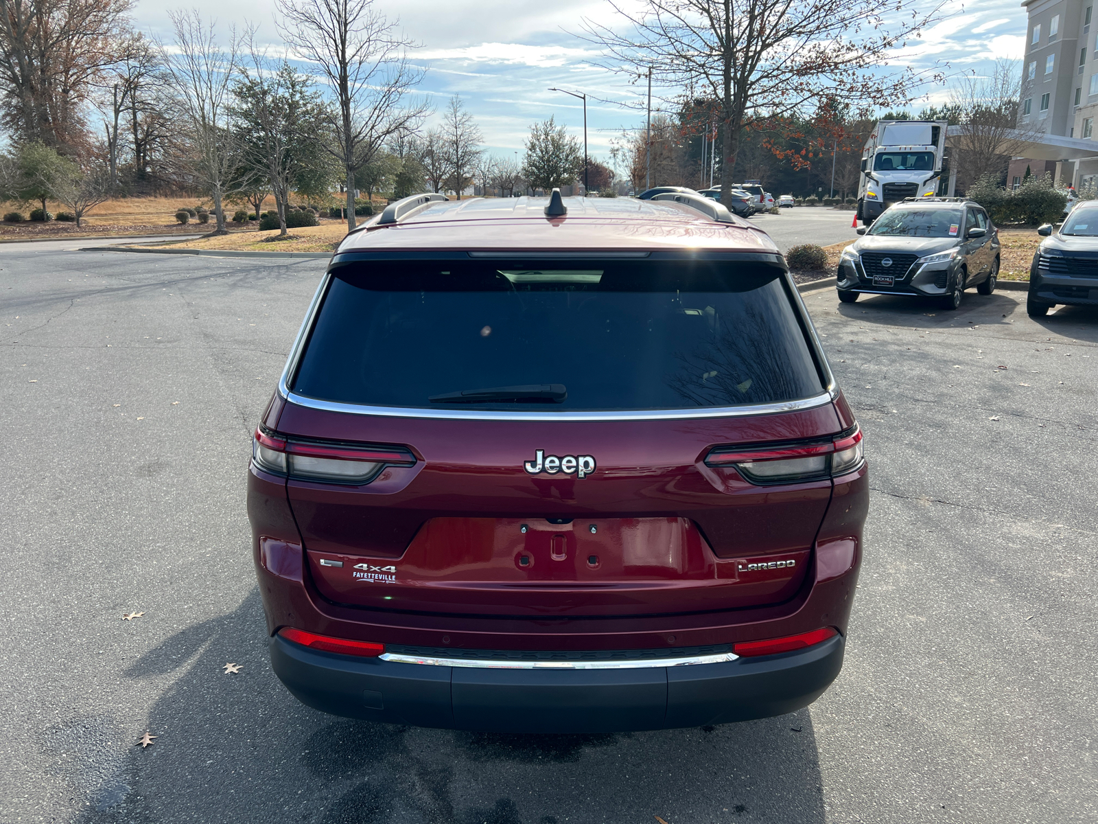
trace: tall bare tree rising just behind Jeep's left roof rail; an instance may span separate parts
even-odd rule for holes
[[[343,166],[347,227],[355,227],[355,172],[395,135],[415,132],[427,104],[410,93],[424,69],[407,59],[415,43],[376,9],[374,0],[277,0],[282,36],[323,77],[335,97],[325,143]]]

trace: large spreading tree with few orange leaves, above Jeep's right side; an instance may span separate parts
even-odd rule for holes
[[[755,119],[804,113],[821,98],[877,109],[906,101],[920,78],[876,69],[940,18],[942,0],[612,0],[623,23],[584,20],[604,65],[658,88],[717,102],[721,168],[736,164]],[[720,197],[731,200],[731,176]]]

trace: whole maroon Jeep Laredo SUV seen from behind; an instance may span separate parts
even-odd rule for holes
[[[287,688],[497,732],[806,706],[867,500],[782,255],[688,193],[390,204],[333,255],[248,471]]]

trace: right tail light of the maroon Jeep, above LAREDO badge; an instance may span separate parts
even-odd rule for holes
[[[718,446],[706,466],[735,467],[751,483],[821,480],[862,465],[862,431],[853,427],[827,441],[800,441],[764,446]]]

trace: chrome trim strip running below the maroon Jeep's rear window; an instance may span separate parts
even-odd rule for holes
[[[825,361],[826,363],[826,361]],[[288,365],[289,366],[289,365]],[[773,415],[782,412],[797,412],[803,409],[815,409],[831,402],[836,386],[828,391],[811,398],[782,403],[757,403],[744,407],[713,407],[709,409],[664,409],[664,410],[629,410],[629,411],[592,411],[592,412],[514,412],[511,410],[461,410],[461,409],[418,409],[407,407],[369,407],[357,403],[337,403],[321,401],[287,390],[285,374],[279,383],[279,391],[290,403],[309,409],[320,409],[325,412],[344,412],[351,415],[382,415],[388,417],[427,417],[449,421],[537,421],[551,423],[553,421],[681,421],[702,417],[746,417],[747,415]]]

